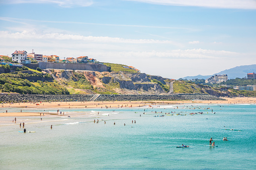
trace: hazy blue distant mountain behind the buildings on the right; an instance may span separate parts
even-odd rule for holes
[[[252,73],[255,72],[256,73],[256,64],[252,64],[252,65],[246,65],[246,66],[237,66],[231,69],[227,69],[224,71],[221,71],[219,73],[215,73],[215,74],[227,74],[228,79],[235,79],[235,78],[243,78],[247,76],[247,73]],[[213,74],[213,75],[215,75]],[[207,79],[209,77],[211,77],[212,75],[208,75],[208,76],[202,76],[202,75],[197,75],[197,76],[187,76],[184,77],[182,79]]]

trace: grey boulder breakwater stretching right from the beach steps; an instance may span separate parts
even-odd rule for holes
[[[101,95],[96,101],[172,101],[172,100],[225,100],[208,94],[173,95]]]

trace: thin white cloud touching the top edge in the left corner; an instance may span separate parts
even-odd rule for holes
[[[57,4],[60,7],[88,7],[93,5],[92,0],[8,0],[0,1],[2,4]]]

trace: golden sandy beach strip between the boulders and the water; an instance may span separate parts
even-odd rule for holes
[[[104,102],[37,102],[37,103],[6,103],[0,107],[5,108],[7,112],[0,113],[0,116],[40,116],[40,112],[22,112],[23,108],[118,108],[118,107],[141,107],[145,105],[161,104],[242,104],[256,103],[253,97],[223,98],[226,100],[193,100],[193,101],[104,101]],[[8,112],[8,108],[21,108],[21,112]],[[43,114],[43,112],[41,112]],[[45,114],[46,115],[46,114]]]

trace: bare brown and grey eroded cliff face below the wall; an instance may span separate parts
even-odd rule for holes
[[[123,72],[96,72],[82,70],[57,70],[46,69],[55,80],[67,88],[83,87],[83,79],[90,83],[97,93],[118,94],[161,94],[165,93],[162,87],[151,82],[145,73]],[[160,80],[162,78],[158,78]],[[74,82],[70,84],[70,82]],[[77,85],[79,84],[80,85]],[[164,82],[165,83],[165,82]],[[75,86],[73,86],[75,85]],[[70,87],[71,86],[71,87]],[[88,87],[88,86],[87,86]],[[84,87],[83,87],[84,89]],[[82,91],[83,89],[80,89]],[[92,90],[92,89],[91,89]],[[84,90],[83,90],[84,92]]]

